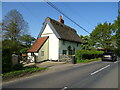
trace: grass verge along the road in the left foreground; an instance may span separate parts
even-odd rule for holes
[[[13,78],[13,77],[18,77],[18,76],[24,76],[26,74],[30,74],[33,72],[37,72],[37,71],[42,71],[42,70],[46,70],[47,68],[39,68],[39,67],[33,67],[33,68],[25,68],[23,70],[19,70],[19,71],[12,71],[12,72],[8,72],[8,73],[4,73],[2,74],[3,79],[8,79],[8,78]]]

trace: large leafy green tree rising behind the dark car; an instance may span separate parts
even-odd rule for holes
[[[114,49],[115,36],[113,29],[111,23],[105,22],[104,24],[98,24],[90,34],[91,44],[96,48],[104,48],[106,50]]]

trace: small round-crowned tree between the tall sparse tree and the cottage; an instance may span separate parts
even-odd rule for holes
[[[20,41],[26,44],[26,46],[31,46],[31,43],[35,41],[35,38],[31,35],[23,35],[20,37]]]

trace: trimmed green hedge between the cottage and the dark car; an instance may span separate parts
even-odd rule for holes
[[[103,51],[98,50],[78,50],[75,53],[77,60],[94,59],[100,57]]]

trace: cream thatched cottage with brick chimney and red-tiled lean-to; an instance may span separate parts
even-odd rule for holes
[[[81,42],[76,30],[64,24],[62,16],[58,21],[47,17],[38,39],[28,50],[28,56],[35,56],[36,62],[59,60],[60,55],[73,55],[81,48]]]

